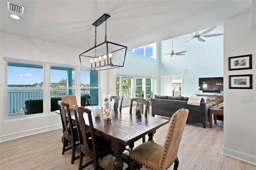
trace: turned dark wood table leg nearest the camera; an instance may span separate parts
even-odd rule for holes
[[[125,145],[120,144],[117,141],[111,141],[111,150],[114,152],[116,159],[114,160],[113,166],[115,170],[122,170],[124,162],[122,160],[122,153],[125,150]]]

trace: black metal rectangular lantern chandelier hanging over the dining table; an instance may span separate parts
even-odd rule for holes
[[[108,18],[110,18],[110,15],[104,14],[104,15],[102,15],[98,20],[96,20],[92,25],[95,26],[95,27],[98,27],[98,26],[99,26],[100,24],[102,24],[103,22],[106,22],[106,20],[107,20]],[[95,31],[96,31],[96,28],[95,28]],[[96,34],[96,32],[95,32],[95,34]],[[109,44],[119,46],[119,49],[114,50],[114,51],[109,51],[109,49],[108,49],[108,45],[109,45]],[[90,51],[93,51],[93,50],[96,50],[97,48],[101,47],[102,45],[106,45],[106,53],[104,53],[104,54],[102,54],[102,55],[99,55],[99,56],[90,56],[90,55],[86,55],[86,53],[88,53],[88,52],[90,52]],[[113,64],[113,63],[112,63],[111,59],[109,59],[109,54],[110,54],[110,53],[114,53],[114,52],[119,51],[119,50],[125,50],[125,51],[124,51],[124,59],[123,59],[123,62],[122,62],[121,65],[116,65],[116,64]],[[126,57],[126,52],[127,52],[127,46],[124,46],[124,45],[120,45],[120,44],[118,44],[118,43],[113,43],[113,42],[107,41],[107,40],[106,40],[106,34],[105,34],[105,41],[102,42],[102,43],[100,43],[100,44],[98,44],[98,45],[96,45],[96,35],[95,35],[95,45],[94,45],[94,47],[88,49],[87,51],[84,51],[83,53],[81,53],[81,54],[79,55],[80,64],[81,64],[81,69],[84,70],[84,71],[102,71],[102,70],[108,70],[108,69],[114,69],[114,68],[124,67],[124,61],[125,61],[125,57]],[[95,54],[95,55],[96,55],[96,54]],[[86,68],[86,69],[84,69],[84,68],[82,67],[82,59],[81,59],[81,57],[90,57],[90,58],[94,58],[94,59],[96,58],[96,59],[98,59],[100,56],[103,57],[103,55],[106,55],[106,60],[105,60],[104,64],[98,65],[98,66],[96,66],[96,64],[95,64],[94,67],[92,67],[92,65],[91,65],[91,67]],[[103,63],[103,62],[102,62],[102,63]]]

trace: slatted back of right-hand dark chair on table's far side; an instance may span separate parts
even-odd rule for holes
[[[132,106],[134,101],[137,102],[136,108],[135,108],[136,115],[143,114],[144,105],[146,105],[144,115],[147,117],[149,101],[147,99],[139,99],[139,98],[131,99],[130,113],[132,113]]]

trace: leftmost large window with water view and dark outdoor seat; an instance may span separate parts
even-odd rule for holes
[[[7,62],[7,118],[43,113],[43,68]]]

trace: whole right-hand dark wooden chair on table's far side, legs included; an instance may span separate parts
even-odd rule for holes
[[[139,98],[131,99],[130,114],[132,114],[132,107],[133,107],[134,101],[137,103],[136,108],[135,108],[135,114],[140,115],[140,116],[143,115],[143,107],[144,107],[144,105],[146,105],[144,116],[147,117],[149,101],[147,99],[139,99]],[[145,136],[142,137],[142,143],[144,143],[144,142],[146,142]],[[134,147],[134,142],[129,144],[129,147],[130,147],[130,150],[132,150]],[[128,149],[126,149],[126,150],[128,150]],[[130,150],[128,150],[128,151],[130,151]]]

